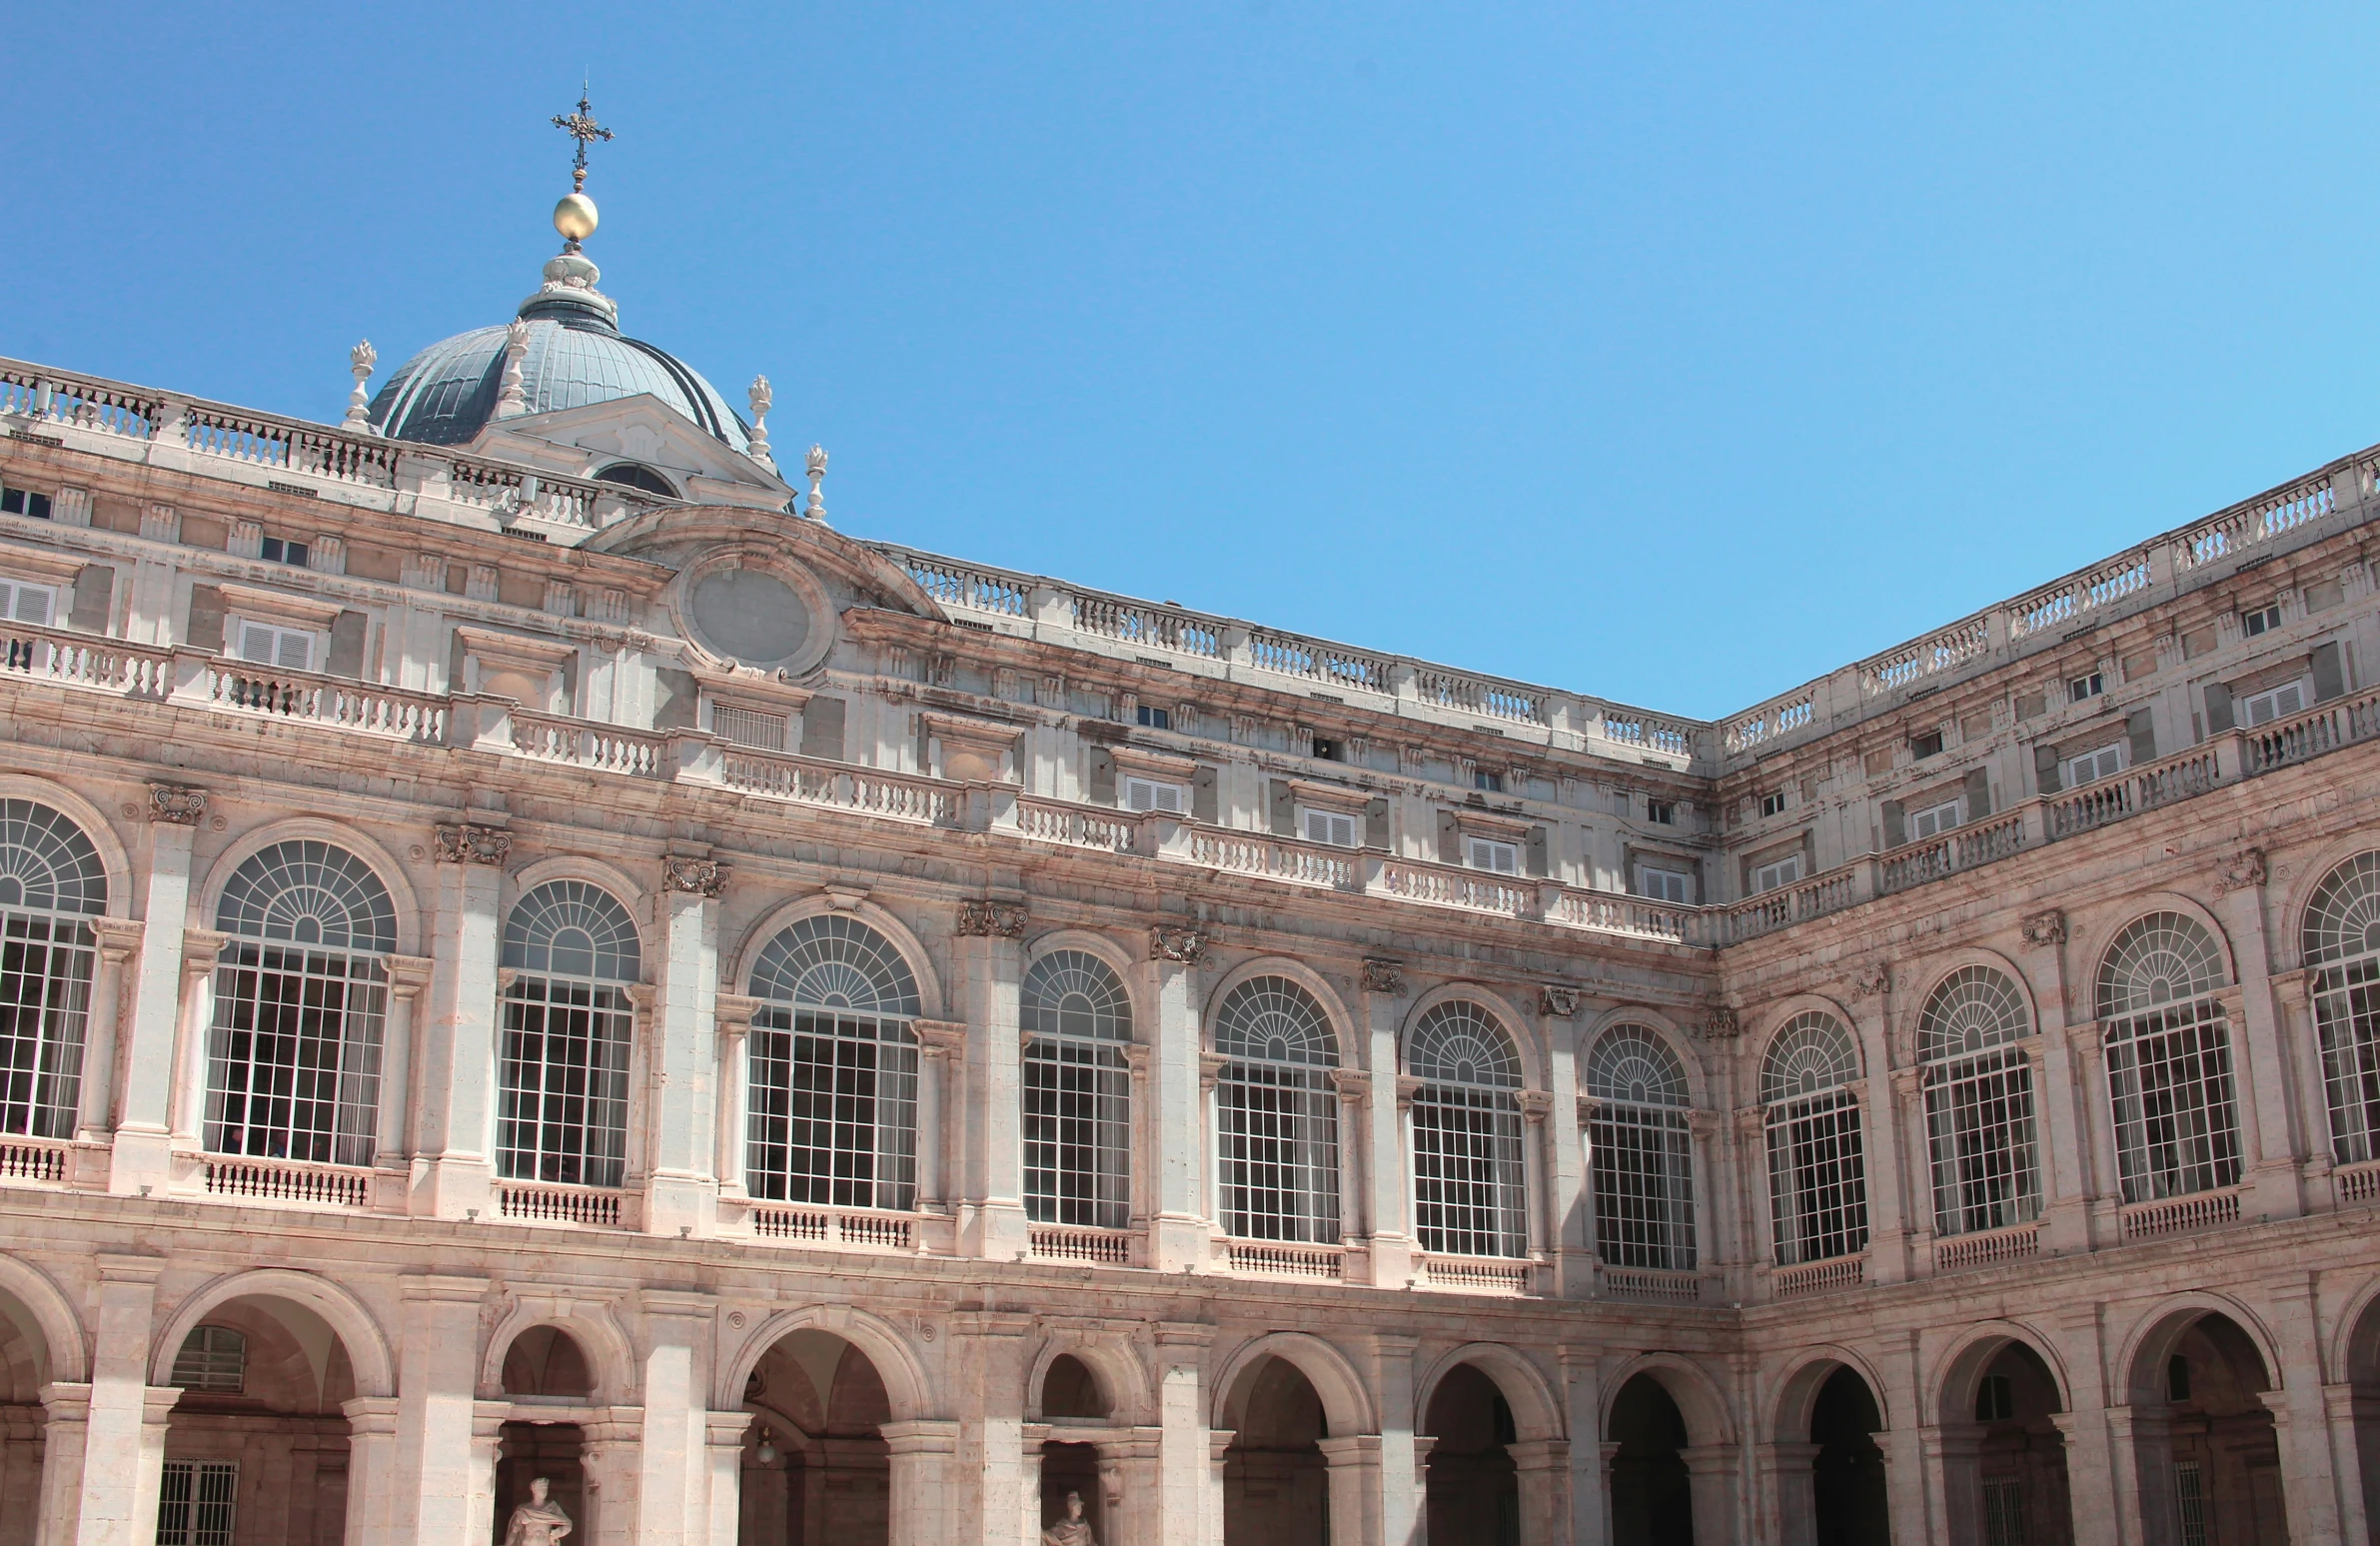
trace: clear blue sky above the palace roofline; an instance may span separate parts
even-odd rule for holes
[[[2373,7],[129,5],[7,24],[0,353],[333,419],[628,331],[833,522],[1723,715],[2380,441]]]

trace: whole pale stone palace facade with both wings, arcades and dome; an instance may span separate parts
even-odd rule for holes
[[[2380,1539],[2380,453],[1702,724],[843,536],[576,248],[0,362],[0,1546]]]

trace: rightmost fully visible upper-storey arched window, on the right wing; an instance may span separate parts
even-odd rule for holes
[[[2240,1179],[2223,950],[2180,912],[2125,927],[2099,962],[2106,1093],[2116,1108],[2123,1201],[2147,1203]]]

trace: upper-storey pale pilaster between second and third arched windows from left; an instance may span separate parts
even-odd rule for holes
[[[497,941],[505,860],[500,827],[438,827],[431,941],[431,1029],[421,1051],[412,1210],[440,1220],[490,1213],[497,1098]]]

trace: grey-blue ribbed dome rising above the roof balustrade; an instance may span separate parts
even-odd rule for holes
[[[545,264],[545,286],[521,303],[528,353],[521,357],[521,412],[540,414],[652,393],[704,434],[750,450],[745,422],[676,355],[624,338],[612,303],[595,291],[595,264],[564,255]],[[371,424],[393,441],[462,445],[495,417],[505,376],[505,326],[433,343],[381,386]]]

